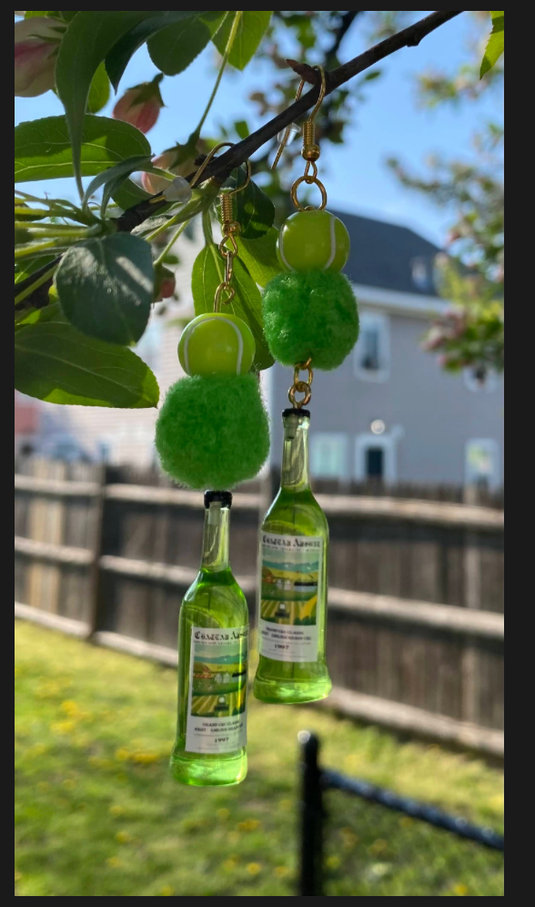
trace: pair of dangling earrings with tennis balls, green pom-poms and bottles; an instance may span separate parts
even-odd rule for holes
[[[286,704],[325,698],[331,688],[328,523],[310,490],[305,407],[312,395],[312,366],[336,369],[358,339],[357,301],[340,273],[348,260],[348,231],[326,210],[327,192],[318,178],[314,120],[326,85],[317,68],[321,91],[304,127],[305,174],[291,191],[298,211],[280,229],[281,272],[267,284],[263,299],[269,350],[278,362],[294,367],[294,382],[292,406],[283,413],[281,487],[260,530],[254,691],[263,701]],[[320,190],[319,209],[300,204],[302,183]],[[220,311],[234,297],[239,224],[232,203],[237,191],[222,197],[219,251],[226,260],[225,280],[217,288],[214,311],[198,316],[183,332],[179,358],[188,377],[169,391],[156,428],[164,469],[193,488],[230,488],[254,478],[269,449],[267,413],[257,376],[249,372],[254,338],[243,320]],[[300,378],[303,371],[306,381]],[[248,609],[228,562],[231,504],[228,491],[205,494],[201,570],[180,613],[178,727],[171,766],[177,780],[201,786],[236,784],[247,774]]]

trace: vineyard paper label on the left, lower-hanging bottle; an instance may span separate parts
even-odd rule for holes
[[[193,627],[186,750],[233,753],[247,745],[248,627]]]

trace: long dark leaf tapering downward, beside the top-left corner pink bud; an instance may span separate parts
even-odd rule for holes
[[[74,171],[80,191],[84,120],[93,76],[121,37],[158,12],[95,13],[82,10],[63,36],[56,62],[56,87],[66,110]]]

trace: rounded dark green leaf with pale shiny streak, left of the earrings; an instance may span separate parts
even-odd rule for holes
[[[80,242],[63,257],[56,289],[78,331],[108,343],[136,343],[153,301],[150,246],[129,233]]]

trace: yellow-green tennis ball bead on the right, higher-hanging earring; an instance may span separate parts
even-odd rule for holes
[[[350,239],[342,221],[329,211],[297,211],[278,234],[278,260],[284,270],[342,270]]]

